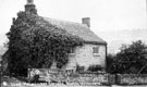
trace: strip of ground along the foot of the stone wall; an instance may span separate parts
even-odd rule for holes
[[[147,87],[147,86],[68,86],[62,84],[28,84],[15,77],[2,76],[0,87]]]

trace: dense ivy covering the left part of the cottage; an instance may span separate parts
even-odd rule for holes
[[[9,38],[9,70],[20,74],[28,67],[58,67],[68,63],[71,48],[82,46],[83,39],[46,22],[41,16],[17,13]]]

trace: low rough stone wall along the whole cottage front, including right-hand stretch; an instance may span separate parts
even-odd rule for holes
[[[147,74],[73,73],[49,69],[32,69],[28,71],[29,78],[33,78],[36,74],[39,74],[47,82],[68,82],[74,85],[147,85]]]

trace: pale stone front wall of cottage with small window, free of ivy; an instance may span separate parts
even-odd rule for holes
[[[76,47],[73,53],[69,54],[66,70],[76,70],[76,65],[84,66],[87,70],[90,65],[100,65],[106,69],[106,46],[85,44]]]

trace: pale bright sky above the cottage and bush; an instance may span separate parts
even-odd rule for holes
[[[121,44],[147,38],[146,0],[34,0],[34,3],[41,16],[76,23],[90,17],[90,29],[108,41],[111,52],[118,51]],[[26,0],[0,0],[0,46],[8,40],[5,33],[12,17],[24,11],[25,4]]]

